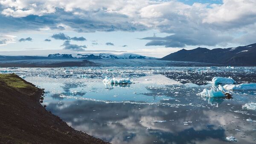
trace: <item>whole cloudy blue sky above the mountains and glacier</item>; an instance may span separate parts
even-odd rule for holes
[[[255,7],[256,0],[0,0],[0,52],[163,57],[249,45],[256,43]]]

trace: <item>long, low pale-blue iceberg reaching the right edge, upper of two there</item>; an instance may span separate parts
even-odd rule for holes
[[[256,83],[224,85],[223,87],[227,90],[256,90]]]

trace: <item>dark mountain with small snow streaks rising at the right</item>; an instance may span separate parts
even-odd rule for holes
[[[235,48],[182,49],[161,58],[161,60],[206,62],[234,66],[256,66],[256,43]]]

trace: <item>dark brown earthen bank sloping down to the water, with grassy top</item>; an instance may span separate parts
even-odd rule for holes
[[[14,73],[0,74],[0,143],[108,144],[47,111],[43,93]]]

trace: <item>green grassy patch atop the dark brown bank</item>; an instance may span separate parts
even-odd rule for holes
[[[31,85],[29,82],[21,79],[16,74],[0,74],[0,83],[5,83],[12,88],[29,88],[36,89],[35,86]]]

